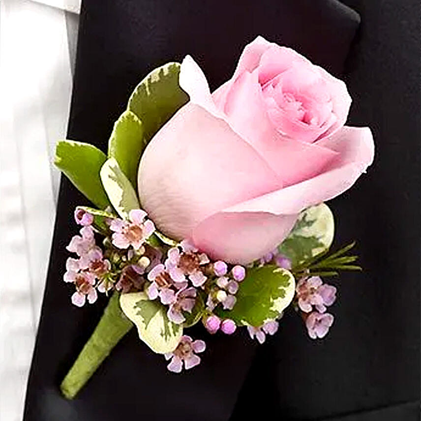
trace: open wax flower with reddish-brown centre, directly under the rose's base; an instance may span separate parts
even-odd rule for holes
[[[207,277],[201,267],[209,263],[208,256],[205,253],[198,253],[198,249],[186,240],[181,241],[180,247],[181,252],[178,247],[168,250],[166,270],[175,282],[184,282],[185,276],[188,275],[193,286],[202,286]]]

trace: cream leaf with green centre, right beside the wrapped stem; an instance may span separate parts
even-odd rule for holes
[[[160,302],[150,301],[143,292],[134,292],[121,294],[120,306],[152,351],[165,354],[177,348],[182,326],[168,319],[167,309]]]

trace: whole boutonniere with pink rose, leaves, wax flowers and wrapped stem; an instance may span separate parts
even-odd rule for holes
[[[344,125],[350,104],[342,81],[257,37],[213,93],[190,56],[153,70],[107,155],[58,143],[56,165],[95,206],[74,212],[71,302],[110,297],[61,384],[66,397],[133,326],[176,373],[206,360],[205,341],[185,333],[197,323],[204,339],[246,328],[263,343],[292,308],[310,338],[326,336],[336,288],[323,279],[361,268],[354,243],[330,250],[324,202],[374,156],[370,130]]]

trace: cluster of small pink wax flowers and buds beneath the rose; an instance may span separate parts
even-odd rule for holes
[[[108,232],[101,246],[95,238],[98,230],[94,216],[81,208],[75,210],[74,216],[82,228],[80,235],[71,239],[67,250],[77,257],[67,259],[63,277],[75,287],[71,297],[74,305],[82,307],[86,301],[93,303],[98,293],[143,291],[149,300],[157,300],[165,306],[171,322],[184,325],[200,300],[204,303],[201,321],[209,333],[236,331],[235,321],[219,317],[215,310],[225,310],[226,314],[234,308],[236,294],[247,275],[246,267],[213,261],[188,240],[173,246],[157,245],[151,241],[155,226],[141,209],[131,210],[127,219],[106,218]],[[254,264],[291,269],[290,260],[278,250]],[[311,338],[322,338],[329,331],[333,316],[326,309],[335,301],[335,294],[336,289],[324,284],[318,276],[303,277],[297,283],[295,307],[301,312]],[[278,320],[266,320],[262,326],[247,326],[247,330],[252,339],[262,344],[266,335],[273,335],[278,327]],[[177,348],[164,355],[170,360],[168,369],[180,372],[183,366],[185,369],[194,367],[201,361],[197,354],[205,348],[203,340],[183,335]]]

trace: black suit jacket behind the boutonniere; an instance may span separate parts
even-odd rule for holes
[[[373,3],[380,7],[380,1]],[[409,8],[405,16],[412,28],[418,16],[415,7]],[[131,331],[78,397],[65,400],[60,381],[105,301],[75,308],[70,288],[61,281],[64,247],[76,230],[73,209],[87,203],[63,177],[25,421],[248,420],[273,412],[279,420],[323,419],[417,398],[420,104],[418,85],[411,92],[406,79],[394,76],[418,73],[412,67],[418,57],[407,33],[399,32],[402,10],[393,16],[393,30],[402,45],[409,42],[410,51],[391,54],[385,47],[390,38],[376,37],[376,19],[389,15],[371,5],[367,9],[374,28],[365,35],[365,24],[353,49],[355,70],[349,82],[356,105],[351,119],[374,128],[377,162],[352,191],[332,202],[339,215],[337,243],[359,239],[367,270],[341,277],[340,305],[333,308],[337,319],[329,337],[312,342],[294,314],[285,316],[277,335],[263,347],[244,332],[210,337],[196,329],[192,335],[205,336],[208,344],[203,363],[174,375]],[[215,88],[231,76],[242,47],[258,34],[339,74],[358,24],[359,16],[335,0],[87,0],[68,137],[106,150],[113,122],[148,71],[188,53]],[[385,76],[393,69],[396,73]],[[395,419],[416,420],[411,408]],[[384,419],[375,417],[349,420]]]

